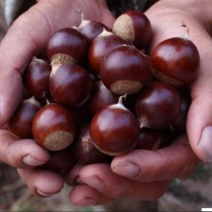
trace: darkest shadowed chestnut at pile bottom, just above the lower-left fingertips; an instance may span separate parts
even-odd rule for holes
[[[71,170],[76,163],[72,148],[70,147],[60,151],[49,151],[49,154],[50,160],[41,167],[59,174],[65,174]]]

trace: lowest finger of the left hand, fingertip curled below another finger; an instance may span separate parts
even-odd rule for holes
[[[30,192],[40,197],[49,197],[59,193],[64,185],[59,174],[47,170],[18,169],[18,174],[27,184]]]

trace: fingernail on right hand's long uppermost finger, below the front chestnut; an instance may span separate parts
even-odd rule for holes
[[[112,167],[113,172],[116,174],[122,175],[124,177],[133,178],[139,174],[139,167],[129,161],[116,164]]]

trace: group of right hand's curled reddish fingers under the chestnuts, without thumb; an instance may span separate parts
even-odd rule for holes
[[[135,150],[116,157],[111,166],[75,166],[65,179],[74,185],[70,201],[80,206],[106,204],[120,198],[155,200],[166,192],[173,179],[188,176],[197,162],[187,139],[181,137],[170,147]]]

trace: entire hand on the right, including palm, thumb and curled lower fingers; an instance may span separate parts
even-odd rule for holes
[[[204,1],[207,5],[208,1]],[[79,205],[104,204],[118,198],[151,200],[164,194],[171,180],[188,176],[196,167],[198,159],[211,161],[212,146],[199,142],[202,137],[210,142],[210,135],[202,133],[211,124],[211,87],[208,71],[212,54],[210,25],[211,20],[196,1],[160,1],[146,14],[153,24],[155,37],[152,48],[160,41],[185,36],[189,29],[189,39],[200,52],[201,63],[197,80],[190,86],[192,104],[187,119],[187,137],[178,138],[174,144],[153,151],[135,150],[116,157],[111,167],[103,164],[77,166],[67,176],[67,183],[73,185],[74,179],[80,185],[74,186],[70,199]],[[192,10],[184,11],[184,8]],[[199,144],[199,145],[198,145]],[[192,149],[191,149],[192,147]],[[193,152],[194,151],[194,152]],[[179,154],[180,153],[180,154]],[[194,153],[196,155],[194,155]]]

